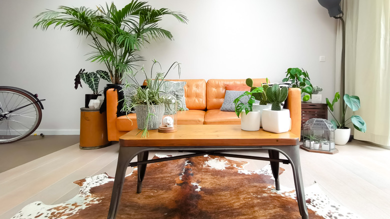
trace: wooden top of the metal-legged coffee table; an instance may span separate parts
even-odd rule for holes
[[[297,145],[299,141],[299,136],[289,131],[244,131],[239,124],[178,125],[177,131],[171,133],[149,130],[146,138],[141,138],[138,131],[133,129],[122,135],[120,146],[283,146]]]

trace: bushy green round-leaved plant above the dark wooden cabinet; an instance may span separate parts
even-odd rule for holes
[[[282,79],[282,81],[286,82],[290,80],[292,87],[298,87],[300,88],[301,93],[307,93],[303,96],[302,100],[304,102],[309,100],[313,86],[311,85],[310,77],[307,71],[305,71],[303,68],[299,69],[297,67],[290,67],[285,73],[285,77]]]

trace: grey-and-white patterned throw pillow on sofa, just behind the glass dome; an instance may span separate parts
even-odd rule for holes
[[[177,110],[188,110],[185,106],[184,85],[185,81],[165,80],[160,87],[160,91],[170,94],[177,99]]]

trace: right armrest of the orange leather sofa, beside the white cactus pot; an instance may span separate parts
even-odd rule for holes
[[[299,136],[300,139],[300,119],[301,119],[301,97],[299,88],[288,88],[285,108],[290,110],[291,132]]]

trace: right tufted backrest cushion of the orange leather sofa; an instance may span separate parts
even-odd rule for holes
[[[225,97],[226,84],[246,85],[245,80],[246,79],[207,80],[207,87],[206,87],[207,109],[219,109],[222,106],[223,99]],[[265,83],[265,78],[253,79],[254,86],[260,86],[261,83]]]

